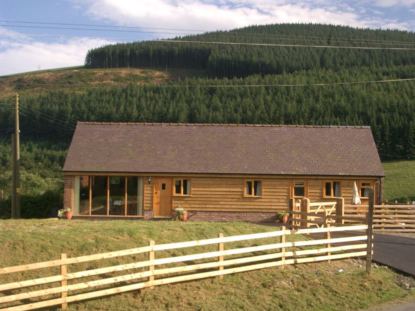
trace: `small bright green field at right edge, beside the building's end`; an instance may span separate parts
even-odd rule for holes
[[[415,161],[384,162],[383,200],[406,203],[415,201]]]

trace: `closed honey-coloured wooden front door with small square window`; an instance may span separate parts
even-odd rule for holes
[[[173,190],[171,178],[154,178],[154,216],[171,217]]]

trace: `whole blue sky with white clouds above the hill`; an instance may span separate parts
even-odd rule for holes
[[[279,23],[415,32],[415,0],[0,0],[0,76],[83,65],[117,42]]]

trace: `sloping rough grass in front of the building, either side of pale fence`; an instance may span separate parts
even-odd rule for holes
[[[229,236],[273,230],[276,228],[242,222],[0,220],[0,266],[59,258],[63,252],[73,257],[144,246],[149,239],[160,244],[217,237],[219,232]],[[293,239],[292,236],[289,238]],[[275,238],[267,242],[272,241],[275,243]],[[226,243],[225,249],[252,245],[247,243]],[[216,250],[217,245],[198,247],[203,252]],[[190,252],[175,249],[171,254],[178,256],[187,251]],[[163,257],[163,254],[157,252],[156,256]],[[126,257],[130,257],[130,261],[144,259],[140,255]],[[68,270],[120,264],[122,260],[112,258],[104,263],[79,263],[70,265]],[[68,310],[354,310],[411,294],[393,282],[398,275],[395,272],[379,266],[373,267],[372,273],[367,275],[362,264],[347,259],[268,268],[225,275],[223,280],[209,278],[160,285],[69,303]],[[59,272],[58,267],[54,269],[53,272]],[[42,274],[45,273],[42,270],[0,275],[0,283],[51,275],[50,270],[47,274]],[[113,275],[105,275],[109,276]]]

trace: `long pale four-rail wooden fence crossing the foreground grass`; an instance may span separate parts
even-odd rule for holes
[[[331,238],[331,232],[346,230],[357,230],[359,233],[350,237]],[[362,232],[359,230],[367,231]],[[286,241],[286,237],[289,235],[316,232],[323,233],[324,238],[317,240],[297,240],[293,242]],[[57,260],[0,268],[1,276],[1,274],[6,273],[19,273],[33,269],[60,267],[60,273],[57,275],[42,276],[28,280],[20,280],[18,278],[18,281],[0,284],[0,310],[31,310],[53,305],[61,305],[65,309],[68,302],[102,297],[145,287],[206,277],[223,277],[225,274],[280,265],[356,256],[366,256],[366,262],[369,265],[366,265],[366,271],[370,272],[372,252],[371,241],[368,236],[371,236],[371,232],[367,225],[329,226],[300,230],[286,230],[285,227],[282,227],[279,231],[228,237],[224,237],[220,233],[217,238],[170,244],[157,245],[154,241],[149,241],[148,246],[73,258],[67,258],[66,254],[61,254],[61,258]],[[275,241],[276,238],[277,241]],[[250,243],[255,242],[255,246],[230,249],[226,249],[225,247],[225,245],[228,245],[226,243],[229,242],[247,240]],[[258,245],[260,241],[266,244]],[[270,241],[271,243],[269,243]],[[334,243],[336,246],[332,246]],[[202,253],[196,252],[182,256],[173,256],[172,254],[162,258],[158,258],[157,256],[158,251],[165,252],[166,250],[202,245],[212,245],[217,250]],[[146,254],[148,260],[132,260],[130,263],[120,265],[69,271],[72,270],[70,267],[76,263],[93,260],[100,260],[102,262],[102,260],[108,258],[137,255],[140,253]],[[247,255],[238,256],[241,254]],[[191,262],[186,264],[187,261]],[[178,263],[180,265],[177,265]],[[141,270],[134,272],[137,271],[137,268]],[[134,273],[129,271],[129,274],[122,274],[123,272],[120,272],[131,269],[134,269]],[[109,273],[114,272],[118,272],[121,275],[108,277]],[[103,275],[104,278],[96,279],[99,275]],[[95,279],[83,281],[84,278],[90,277],[94,277]],[[68,281],[78,278],[83,279],[82,281],[78,280],[78,282],[68,284]],[[35,286],[35,289],[22,291],[29,286]],[[91,289],[97,286],[100,286],[100,288],[91,291]],[[101,289],[102,286],[106,286],[106,288]],[[39,287],[42,287],[42,289],[38,289]]]

